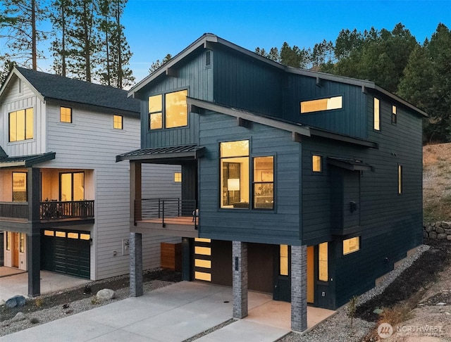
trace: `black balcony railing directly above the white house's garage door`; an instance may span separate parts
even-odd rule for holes
[[[94,217],[94,201],[45,201],[39,203],[41,220]]]

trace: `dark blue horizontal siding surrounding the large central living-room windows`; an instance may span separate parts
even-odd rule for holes
[[[300,144],[290,132],[207,112],[200,115],[199,236],[257,243],[300,244]],[[219,143],[249,139],[250,156],[274,156],[275,210],[221,209]],[[249,160],[252,163],[252,159]],[[250,177],[250,175],[249,175]],[[250,178],[249,178],[250,179]],[[249,186],[252,193],[252,186]]]

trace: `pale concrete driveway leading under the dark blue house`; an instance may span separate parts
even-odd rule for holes
[[[275,341],[290,332],[290,303],[249,292],[249,316],[197,341]],[[309,308],[316,309],[316,308]],[[318,309],[323,310],[323,309]],[[311,310],[309,310],[310,312]],[[321,319],[334,311],[321,311]],[[310,315],[314,317],[316,315]],[[260,317],[260,318],[259,318]],[[264,319],[261,319],[261,318]],[[0,338],[0,341],[184,341],[232,318],[232,289],[182,281]],[[315,322],[310,322],[309,328]]]

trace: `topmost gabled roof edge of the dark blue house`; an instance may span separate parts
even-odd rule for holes
[[[134,87],[132,87],[128,91],[128,96],[133,97],[139,97],[136,96],[136,94],[140,91],[140,89],[144,88],[149,82],[152,82],[157,77],[161,75],[173,75],[173,70],[177,68],[178,63],[183,61],[187,56],[189,56],[194,51],[197,51],[198,49],[213,49],[215,45],[220,44],[223,47],[226,47],[227,49],[232,49],[233,51],[237,53],[242,53],[244,56],[248,56],[250,58],[254,58],[255,60],[261,61],[266,63],[268,67],[271,68],[277,68],[282,72],[288,72],[296,75],[303,75],[306,77],[313,77],[316,79],[316,82],[318,84],[321,83],[321,80],[329,80],[333,82],[340,82],[345,84],[352,84],[356,85],[358,87],[362,87],[362,91],[365,91],[365,89],[373,89],[374,91],[377,91],[378,93],[384,94],[385,96],[390,97],[394,101],[402,103],[404,106],[407,106],[408,108],[411,108],[412,110],[415,110],[420,115],[423,115],[425,117],[428,117],[428,114],[424,112],[423,110],[416,108],[412,103],[409,103],[403,99],[401,99],[399,96],[396,96],[395,94],[390,93],[390,91],[387,91],[378,85],[376,85],[374,82],[368,81],[368,80],[358,80],[355,78],[350,77],[344,77],[344,76],[338,76],[338,75],[330,75],[326,74],[325,72],[317,72],[312,70],[304,70],[304,69],[297,69],[292,68],[286,65],[282,65],[280,63],[277,63],[275,61],[272,61],[269,58],[263,57],[258,55],[257,53],[254,53],[252,51],[249,51],[247,49],[242,48],[241,46],[237,46],[236,44],[233,44],[231,42],[228,42],[226,39],[222,39],[221,37],[216,36],[216,34],[211,33],[205,33],[202,35],[202,37],[199,37],[195,42],[190,44],[190,46],[187,46],[187,48],[183,49],[180,53],[178,53],[176,56],[174,56],[168,63],[165,63],[161,65],[160,68],[152,72],[149,76],[145,77],[142,81],[135,84]]]

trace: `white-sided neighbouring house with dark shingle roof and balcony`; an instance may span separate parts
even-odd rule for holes
[[[30,296],[39,294],[39,270],[93,280],[129,272],[130,167],[116,156],[135,148],[140,102],[126,91],[24,68],[8,76],[0,89],[0,261],[32,274]],[[164,184],[159,196],[180,197],[179,166],[143,172],[151,179],[143,194]],[[143,241],[145,269],[160,266],[162,241],[180,238]]]

